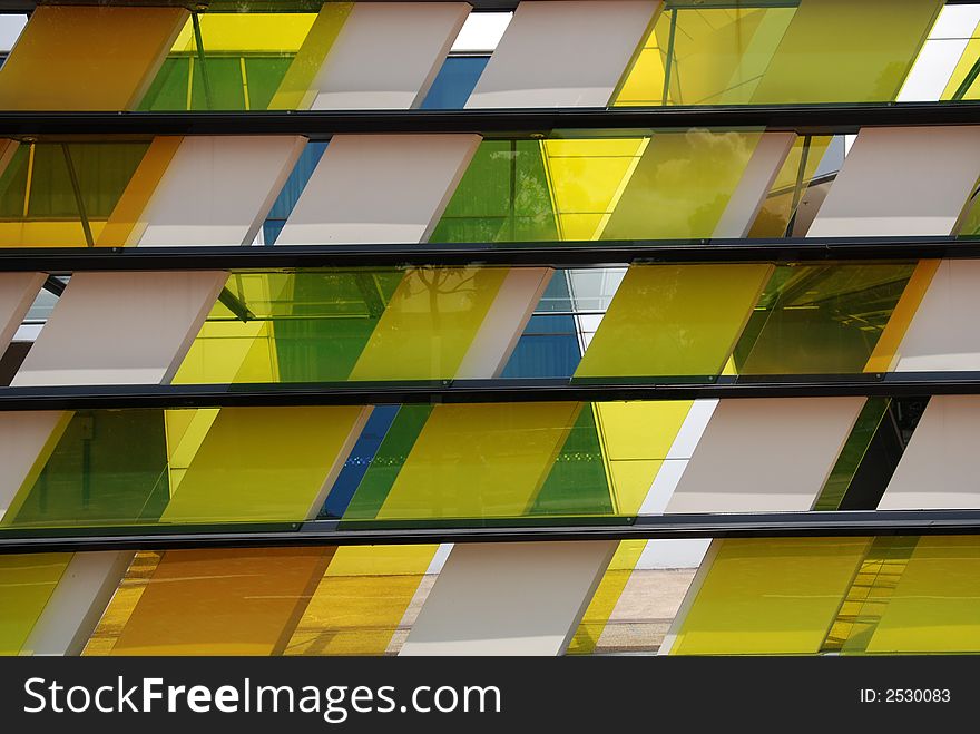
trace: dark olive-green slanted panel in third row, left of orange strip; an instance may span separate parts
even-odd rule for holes
[[[735,348],[742,374],[863,371],[912,264],[780,265]]]

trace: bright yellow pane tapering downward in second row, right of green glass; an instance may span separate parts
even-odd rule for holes
[[[599,236],[648,141],[649,138],[542,141],[561,239]]]

